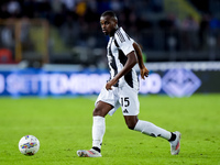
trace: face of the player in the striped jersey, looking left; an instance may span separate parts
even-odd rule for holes
[[[111,18],[109,15],[101,16],[100,18],[100,24],[101,29],[105,35],[113,35],[112,33],[118,28],[117,20],[114,18]]]

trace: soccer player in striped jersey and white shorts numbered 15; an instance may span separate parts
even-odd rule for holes
[[[102,138],[106,131],[105,117],[112,116],[121,107],[125,123],[129,129],[142,132],[150,136],[161,136],[170,143],[172,155],[177,155],[180,150],[180,133],[169,132],[155,124],[139,120],[140,102],[138,99],[139,80],[134,70],[138,63],[141,77],[148,76],[144,66],[142,51],[122,28],[118,26],[118,19],[113,11],[106,11],[100,16],[102,32],[110,36],[107,46],[107,58],[110,68],[110,80],[99,94],[94,110],[92,147],[79,150],[79,157],[101,157]]]

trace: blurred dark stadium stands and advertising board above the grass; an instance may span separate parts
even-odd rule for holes
[[[106,10],[143,48],[141,94],[220,92],[219,0],[1,0],[0,96],[98,94]]]

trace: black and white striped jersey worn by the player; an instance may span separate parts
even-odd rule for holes
[[[127,63],[127,55],[134,51],[133,40],[124,32],[122,28],[119,28],[114,35],[110,37],[107,46],[107,57],[110,68],[111,79],[123,68]],[[138,75],[134,68],[127,75],[122,76],[117,82],[117,87],[122,87],[128,84],[130,87],[139,90]]]

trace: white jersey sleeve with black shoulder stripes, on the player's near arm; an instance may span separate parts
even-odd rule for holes
[[[133,47],[133,40],[122,30],[119,29],[116,31],[114,34],[118,47],[125,54],[128,55],[130,52],[134,51]]]

